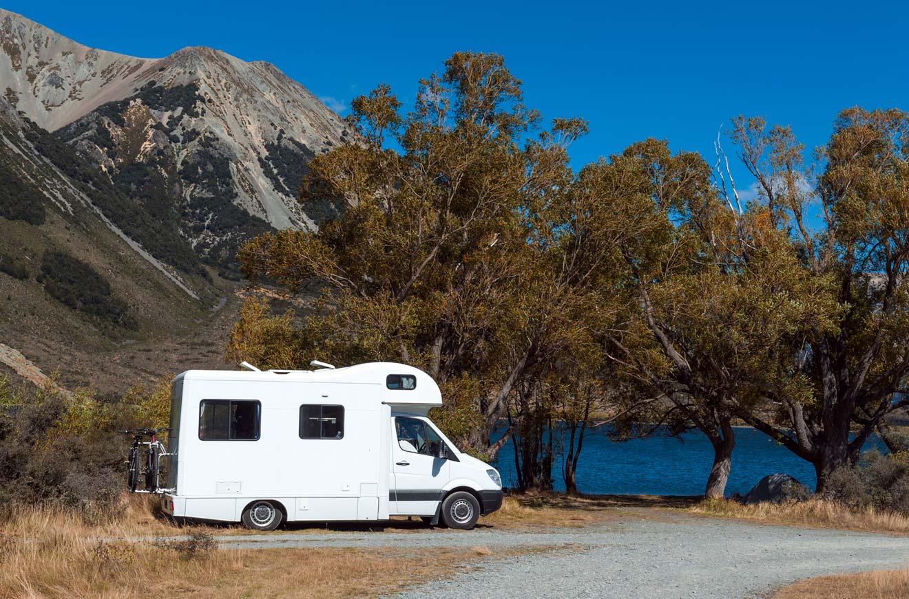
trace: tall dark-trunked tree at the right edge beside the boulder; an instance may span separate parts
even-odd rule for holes
[[[732,137],[760,185],[774,226],[791,236],[805,276],[824,280],[839,306],[777,354],[770,407],[736,413],[810,461],[824,491],[840,466],[854,466],[884,418],[909,405],[909,118],[898,110],[840,113],[834,133],[805,167],[787,127],[734,120]],[[817,206],[822,227],[808,211]],[[791,392],[797,388],[798,392]]]

